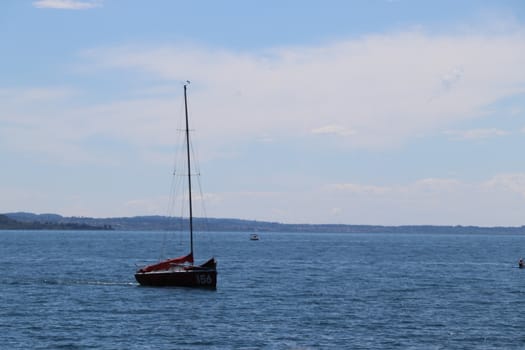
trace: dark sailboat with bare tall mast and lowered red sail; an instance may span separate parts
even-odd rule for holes
[[[189,83],[189,81],[187,82]],[[190,252],[187,255],[167,259],[140,268],[135,279],[143,286],[199,287],[215,289],[217,286],[217,261],[211,258],[201,265],[193,259],[193,208],[191,192],[190,129],[188,122],[187,84],[184,84],[184,111],[186,116],[186,161],[188,169],[189,236]]]

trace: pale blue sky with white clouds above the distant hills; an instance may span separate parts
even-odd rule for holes
[[[6,0],[0,43],[0,212],[168,214],[189,80],[208,217],[525,225],[522,0]]]

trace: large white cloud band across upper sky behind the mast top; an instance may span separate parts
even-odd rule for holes
[[[189,78],[193,128],[216,150],[223,142],[261,135],[265,140],[337,135],[347,147],[389,149],[485,116],[495,101],[525,93],[524,33],[521,28],[485,36],[402,32],[262,52],[188,45],[92,49],[82,54],[83,74],[107,79],[115,69],[127,69],[137,79],[147,73],[149,84],[129,91],[127,99],[93,103],[90,97],[89,105],[76,104],[87,90],[83,96],[63,87],[0,90],[0,121],[19,126],[16,133],[4,128],[2,142],[61,158],[70,150],[76,153],[70,159],[96,160],[105,157],[87,154],[91,150],[81,149],[78,140],[104,135],[146,152],[171,142],[181,89],[176,100],[168,84],[178,88]],[[151,84],[151,77],[159,81]],[[474,139],[506,132],[448,134]]]

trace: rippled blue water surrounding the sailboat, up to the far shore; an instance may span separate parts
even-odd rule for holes
[[[216,291],[140,287],[163,236],[0,231],[0,347],[525,348],[522,236],[206,233]]]

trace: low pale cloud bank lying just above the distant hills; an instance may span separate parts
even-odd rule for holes
[[[99,195],[11,186],[0,190],[5,199],[0,212],[110,217],[165,215],[168,210],[168,198],[162,195],[111,197],[101,202]],[[206,194],[205,204],[209,217],[285,223],[520,226],[525,224],[525,173],[498,174],[478,182],[427,178],[406,184],[341,183],[300,191],[215,192]],[[199,209],[196,204],[196,216],[203,215]]]

